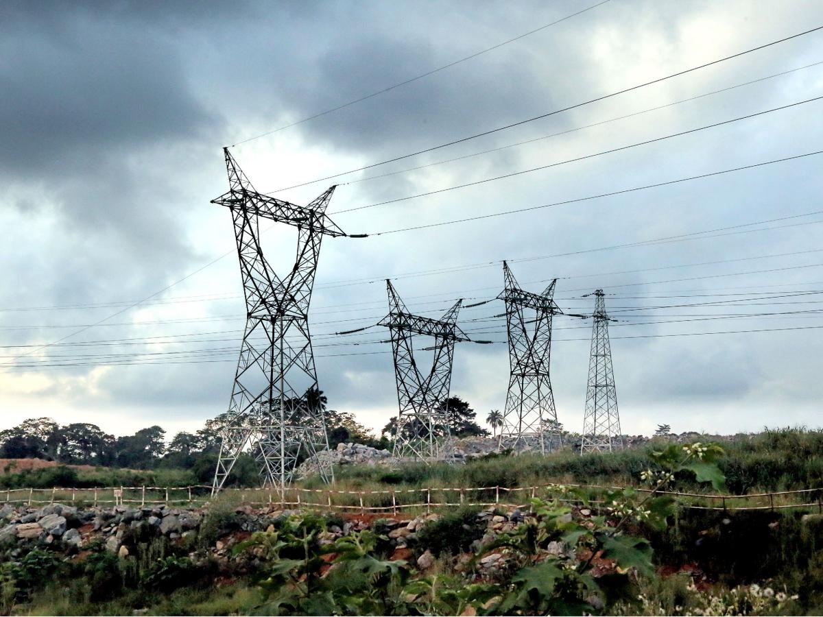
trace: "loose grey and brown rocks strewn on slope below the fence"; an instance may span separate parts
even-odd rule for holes
[[[202,509],[167,506],[75,508],[61,503],[29,508],[7,504],[0,508],[0,551],[11,559],[16,559],[36,545],[49,545],[52,550],[73,556],[74,559],[83,559],[89,550],[108,550],[118,554],[121,559],[128,559],[131,554],[136,554],[137,547],[134,543],[139,537],[142,543],[160,539],[175,545],[189,546],[192,548],[189,557],[195,563],[212,560],[226,568],[236,569],[244,565],[253,568],[253,550],[235,554],[235,545],[247,540],[254,531],[272,531],[276,519],[290,513],[295,511],[241,506],[230,513],[230,524],[218,528],[214,533],[214,540],[203,546],[194,541],[207,524],[207,513]],[[587,509],[574,511],[574,517],[586,518],[590,515]],[[328,526],[328,531],[323,532],[320,541],[321,544],[331,544],[338,537],[351,534],[352,531],[374,529],[388,536],[394,546],[392,559],[406,559],[412,564],[416,563],[418,568],[426,569],[434,564],[435,558],[430,550],[414,546],[414,541],[422,527],[437,521],[440,516],[438,513],[416,517],[346,514],[338,517],[341,524]],[[477,520],[481,525],[485,524],[486,532],[481,539],[476,540],[472,549],[482,554],[482,547],[491,544],[495,536],[514,530],[528,516],[528,513],[518,509],[504,512],[489,508],[477,513]],[[559,553],[570,550],[563,543],[553,544],[555,546],[550,549]],[[415,548],[414,551],[412,547]],[[491,550],[481,557],[479,563],[481,570],[492,575],[505,568],[506,562],[504,550]]]

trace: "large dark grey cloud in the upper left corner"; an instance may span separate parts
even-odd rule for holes
[[[179,49],[156,30],[91,15],[66,16],[56,33],[25,23],[7,23],[0,43],[7,174],[91,174],[215,123],[190,90]]]

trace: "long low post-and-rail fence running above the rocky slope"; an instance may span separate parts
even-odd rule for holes
[[[223,489],[221,495],[252,506],[323,509],[351,513],[392,513],[419,510],[430,513],[434,508],[481,506],[500,508],[529,508],[528,499],[557,497],[559,485],[534,485],[517,488],[484,486],[477,488],[425,487],[417,489],[337,490],[304,489]],[[653,491],[635,487],[602,485],[565,485],[587,493],[589,503],[601,504],[604,490],[633,488],[641,494],[656,492],[674,497],[684,508],[715,511],[781,510],[788,508],[816,508],[823,513],[823,489],[784,490],[772,493],[744,495],[699,494],[673,491]],[[193,486],[107,486],[91,489],[0,489],[0,503],[21,503],[40,506],[49,503],[71,503],[77,506],[202,506],[212,499],[212,487]],[[581,503],[581,499],[561,499]]]

